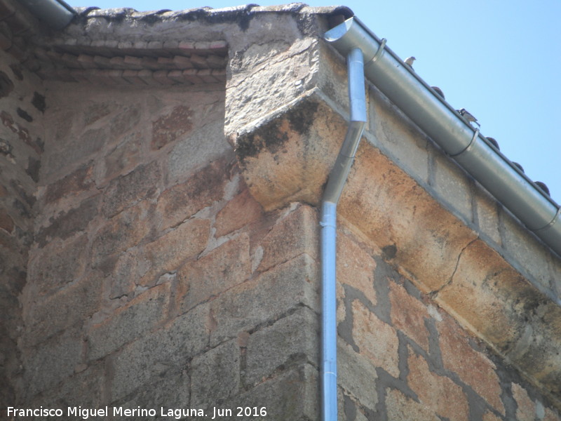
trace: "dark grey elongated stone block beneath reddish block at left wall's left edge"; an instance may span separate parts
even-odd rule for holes
[[[49,225],[39,228],[35,241],[39,247],[56,238],[67,239],[76,232],[85,231],[91,220],[97,215],[100,195],[81,201],[78,207],[62,211],[55,218],[50,218]]]

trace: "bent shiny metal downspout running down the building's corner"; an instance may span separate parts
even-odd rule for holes
[[[337,298],[336,236],[337,202],[353,165],[366,123],[363,52],[353,48],[347,55],[351,119],[337,160],[327,179],[320,215],[321,248],[321,404],[322,420],[337,421]]]

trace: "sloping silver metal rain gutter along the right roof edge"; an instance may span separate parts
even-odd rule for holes
[[[389,100],[561,256],[561,207],[501,154],[357,18],[325,33],[343,56],[363,51],[365,74]]]

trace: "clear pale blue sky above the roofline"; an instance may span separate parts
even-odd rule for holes
[[[224,0],[67,2],[137,11],[243,4]],[[560,0],[311,0],[307,4],[349,6],[374,34],[388,39],[388,46],[402,59],[414,55],[417,74],[442,88],[453,107],[465,107],[474,114],[481,133],[496,138],[503,154],[522,164],[529,178],[545,182],[553,199],[561,202]]]

